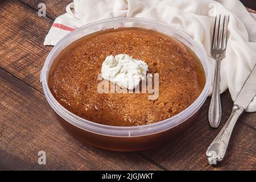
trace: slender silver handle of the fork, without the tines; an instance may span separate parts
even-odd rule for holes
[[[208,111],[210,126],[218,127],[221,121],[221,101],[220,101],[220,63],[221,59],[216,59],[212,98]]]

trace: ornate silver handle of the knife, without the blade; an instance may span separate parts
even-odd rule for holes
[[[209,164],[217,164],[224,158],[234,126],[244,110],[241,106],[233,106],[232,113],[225,126],[207,149],[206,155]]]

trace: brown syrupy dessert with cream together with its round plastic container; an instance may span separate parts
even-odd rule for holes
[[[113,79],[107,80],[123,60],[122,71],[109,73]],[[138,79],[158,74],[158,85],[152,84],[158,86],[157,97],[149,99],[156,90],[142,92],[143,79],[131,88],[120,84],[125,75],[119,75],[137,68],[128,69],[131,63],[143,73]],[[114,82],[113,75],[119,80]],[[126,92],[99,92],[100,76]],[[69,133],[117,151],[144,150],[182,133],[196,121],[210,85],[203,48],[172,26],[141,18],[101,20],[71,32],[52,49],[41,80]]]

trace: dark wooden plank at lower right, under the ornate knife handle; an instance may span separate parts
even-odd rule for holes
[[[205,151],[224,122],[218,129],[210,128],[205,117],[207,108],[208,104],[201,108],[197,123],[182,136],[164,146],[144,151],[143,154],[170,170],[255,169],[256,131],[241,122],[238,122],[234,130],[224,162],[217,167],[208,164]],[[228,115],[222,114],[222,118],[226,120]]]

